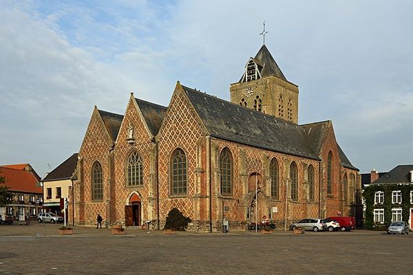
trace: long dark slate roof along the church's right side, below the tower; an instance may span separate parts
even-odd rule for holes
[[[301,126],[189,87],[182,88],[211,136],[319,160]]]

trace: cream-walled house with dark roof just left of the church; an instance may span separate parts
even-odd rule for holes
[[[77,161],[78,154],[74,153],[42,180],[43,206],[47,212],[61,214],[64,209],[63,199],[69,198],[72,192],[72,176],[76,170]]]

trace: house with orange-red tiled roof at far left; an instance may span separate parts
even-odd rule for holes
[[[43,211],[43,190],[39,185],[40,177],[30,164],[0,166],[0,175],[6,179],[8,190],[14,195],[12,203],[4,212],[16,221],[36,219]],[[2,211],[2,212],[3,212]]]

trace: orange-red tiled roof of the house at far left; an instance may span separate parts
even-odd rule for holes
[[[37,186],[39,181],[36,179],[36,176],[28,170],[1,166],[0,175],[6,178],[5,184],[10,191],[43,194],[43,189]]]

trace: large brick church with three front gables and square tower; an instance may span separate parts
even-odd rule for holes
[[[125,115],[94,108],[78,155],[75,224],[162,229],[178,208],[189,230],[277,228],[304,217],[357,214],[358,169],[331,121],[299,125],[298,87],[265,45],[231,102],[176,84],[168,107],[131,94]],[[72,201],[72,199],[70,199]],[[73,222],[73,221],[72,221]]]

